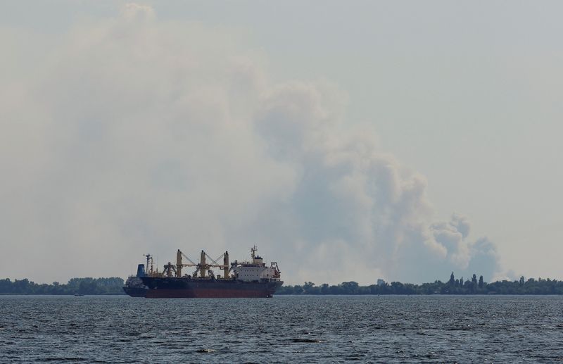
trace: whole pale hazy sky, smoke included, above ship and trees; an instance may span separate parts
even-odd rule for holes
[[[0,277],[562,278],[557,1],[1,8]]]

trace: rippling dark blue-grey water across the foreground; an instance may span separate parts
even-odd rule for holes
[[[0,296],[1,363],[553,362],[561,296]]]

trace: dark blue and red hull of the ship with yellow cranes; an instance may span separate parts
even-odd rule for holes
[[[148,299],[265,298],[272,297],[283,282],[141,277]]]

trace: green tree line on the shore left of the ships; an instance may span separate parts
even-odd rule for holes
[[[30,280],[0,280],[0,294],[125,294],[123,280],[110,278],[72,278],[67,284],[37,284]]]

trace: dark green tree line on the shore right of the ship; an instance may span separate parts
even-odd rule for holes
[[[276,294],[563,294],[563,281],[538,278],[525,280],[502,280],[493,283],[483,281],[481,275],[467,280],[456,279],[453,272],[450,280],[432,283],[411,284],[377,280],[376,284],[360,286],[357,282],[342,282],[338,285],[305,282],[303,285],[282,286]]]

